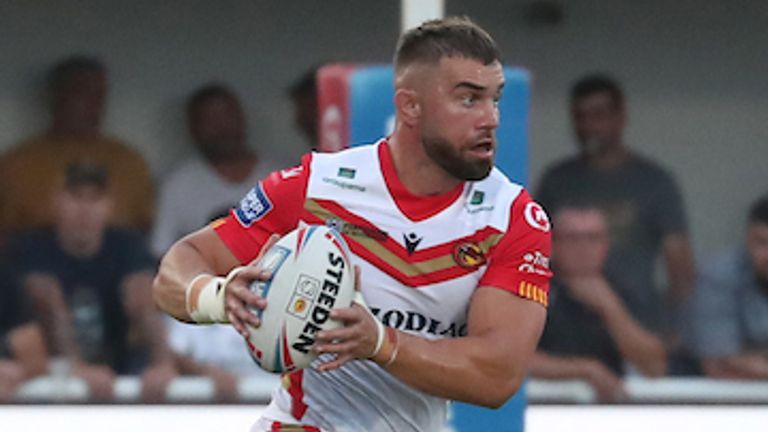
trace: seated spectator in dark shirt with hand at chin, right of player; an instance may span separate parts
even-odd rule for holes
[[[630,364],[647,376],[666,370],[661,339],[638,323],[605,276],[608,228],[595,207],[562,206],[553,218],[547,325],[531,372],[539,378],[583,379],[604,402],[624,397]],[[537,260],[531,257],[532,271]]]

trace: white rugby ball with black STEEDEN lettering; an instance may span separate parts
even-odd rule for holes
[[[267,299],[251,312],[261,326],[248,328],[246,344],[253,360],[268,372],[309,366],[315,333],[341,327],[331,309],[349,307],[355,294],[354,269],[342,236],[324,225],[307,225],[282,237],[259,262],[272,278],[256,281],[251,291]]]

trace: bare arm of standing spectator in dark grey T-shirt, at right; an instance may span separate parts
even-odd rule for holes
[[[662,244],[667,283],[672,303],[680,305],[688,298],[695,278],[695,263],[688,236],[668,234]]]

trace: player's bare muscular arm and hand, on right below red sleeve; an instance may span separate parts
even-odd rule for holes
[[[347,323],[359,322],[364,321],[365,312],[336,309],[331,316]],[[398,332],[397,358],[387,370],[431,395],[499,407],[522,383],[545,320],[546,309],[541,305],[501,289],[480,287],[470,304],[466,337],[430,341]],[[318,350],[346,350],[336,348],[332,341],[347,340],[352,331],[347,327],[320,332]],[[387,346],[373,360],[386,364],[393,348]],[[371,351],[371,343],[359,349],[360,353]]]

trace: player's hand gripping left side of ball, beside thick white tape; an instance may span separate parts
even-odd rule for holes
[[[225,287],[224,308],[232,326],[243,337],[248,337],[248,326],[259,327],[261,320],[254,315],[250,308],[265,309],[267,300],[251,292],[251,284],[255,281],[268,281],[272,275],[259,268],[259,261],[280,237],[272,234],[259,255],[248,266],[240,270]]]

